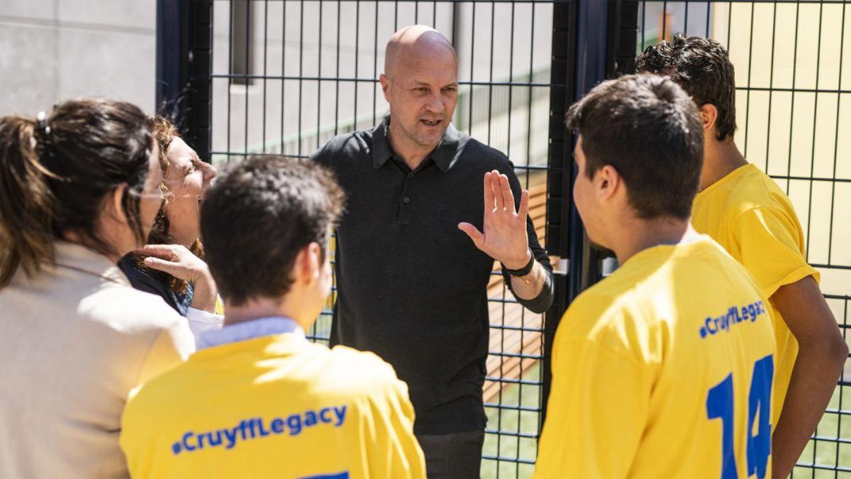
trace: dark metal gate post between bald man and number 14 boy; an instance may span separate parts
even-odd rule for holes
[[[552,384],[551,350],[568,305],[602,277],[603,257],[591,249],[573,201],[575,136],[564,115],[594,85],[635,69],[636,0],[568,0],[553,5],[550,96],[551,168],[547,189],[547,251],[566,260],[556,275],[556,300],[544,322],[543,413]]]

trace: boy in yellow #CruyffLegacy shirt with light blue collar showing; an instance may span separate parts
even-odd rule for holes
[[[376,355],[309,343],[343,207],[308,160],[250,158],[207,194],[202,237],[225,326],[142,386],[120,444],[134,477],[426,477],[408,388]]]

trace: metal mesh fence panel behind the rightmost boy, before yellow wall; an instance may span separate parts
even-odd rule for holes
[[[715,38],[736,70],[736,143],[790,196],[842,335],[851,298],[851,8],[844,2],[639,2],[639,49]],[[793,477],[851,477],[849,367]]]

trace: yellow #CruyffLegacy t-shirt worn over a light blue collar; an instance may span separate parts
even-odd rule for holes
[[[392,367],[291,333],[199,350],[142,386],[122,426],[133,477],[426,477]]]

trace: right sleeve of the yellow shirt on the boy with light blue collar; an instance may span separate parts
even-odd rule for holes
[[[368,428],[370,476],[426,479],[426,459],[414,436],[414,406],[408,400],[408,386],[394,379],[383,396],[383,400],[374,400],[373,424]]]

